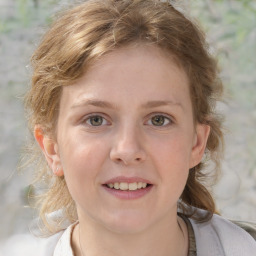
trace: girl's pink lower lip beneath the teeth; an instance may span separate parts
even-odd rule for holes
[[[107,186],[103,186],[103,188],[108,193],[112,194],[113,196],[119,199],[126,199],[126,200],[141,198],[147,195],[151,191],[152,187],[153,185],[150,185],[146,188],[137,189],[137,190],[118,190],[118,189],[109,188]]]

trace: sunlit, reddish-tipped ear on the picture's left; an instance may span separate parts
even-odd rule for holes
[[[45,159],[49,167],[52,169],[54,175],[63,176],[64,173],[61,166],[57,142],[44,134],[43,129],[38,125],[35,126],[34,136],[41,150],[43,151]]]

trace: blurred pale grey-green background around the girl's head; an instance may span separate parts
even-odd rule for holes
[[[214,189],[222,215],[256,221],[256,1],[187,0],[179,6],[201,23],[225,85],[223,172]],[[27,233],[31,172],[17,171],[28,132],[22,96],[29,58],[54,12],[72,0],[0,0],[0,244]]]

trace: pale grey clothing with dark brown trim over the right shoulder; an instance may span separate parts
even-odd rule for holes
[[[199,212],[205,212],[199,210]],[[200,214],[200,213],[199,213]],[[188,256],[212,256],[212,255],[256,255],[256,223],[246,221],[231,221],[226,220],[218,215],[213,215],[213,218],[204,223],[196,223],[195,221],[186,218],[184,215],[179,215],[187,224],[189,236],[189,252]],[[223,225],[223,222],[225,225]],[[220,228],[221,227],[221,228]],[[204,229],[202,231],[202,228]],[[235,229],[235,235],[245,235],[245,239],[249,239],[253,246],[245,245],[246,250],[240,244],[238,237],[234,237],[231,228]],[[245,231],[245,232],[244,232]],[[222,239],[223,233],[226,237]],[[210,236],[212,237],[208,237]],[[251,236],[248,236],[248,234]],[[252,239],[251,239],[252,238]],[[221,240],[222,239],[222,240]],[[234,242],[237,243],[234,244]],[[196,241],[197,240],[197,241]],[[221,241],[218,241],[221,240]],[[227,242],[229,245],[227,245]],[[225,245],[223,245],[225,244]],[[235,245],[235,246],[234,246]],[[239,247],[236,250],[236,246]],[[241,247],[240,247],[241,246]],[[198,247],[198,250],[197,250]],[[221,247],[221,249],[219,249]],[[241,249],[242,248],[242,249]],[[231,251],[231,249],[233,251]],[[240,250],[243,250],[241,253]],[[247,251],[249,250],[249,251]]]

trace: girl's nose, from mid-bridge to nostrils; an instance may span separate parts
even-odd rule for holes
[[[135,129],[123,129],[113,141],[110,159],[124,165],[134,165],[146,160],[143,138]]]

